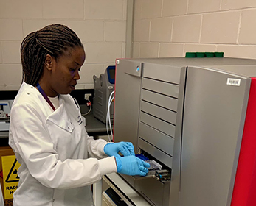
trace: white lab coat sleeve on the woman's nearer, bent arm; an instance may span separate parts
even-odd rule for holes
[[[49,188],[77,188],[91,185],[104,174],[117,171],[114,157],[102,160],[60,161],[40,110],[30,104],[15,104],[11,113],[10,136],[13,149],[21,156],[32,177]],[[98,145],[102,148],[103,143]],[[97,147],[97,146],[96,146]]]

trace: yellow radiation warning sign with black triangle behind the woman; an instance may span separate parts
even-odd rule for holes
[[[4,179],[4,199],[13,199],[13,193],[18,188],[18,168],[21,165],[15,155],[2,156],[1,165]]]

